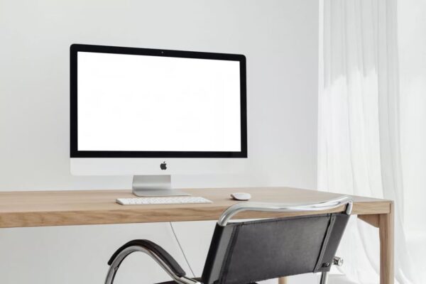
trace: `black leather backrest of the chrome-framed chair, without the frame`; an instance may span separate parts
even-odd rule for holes
[[[246,284],[329,271],[349,215],[317,214],[217,225],[205,284]]]

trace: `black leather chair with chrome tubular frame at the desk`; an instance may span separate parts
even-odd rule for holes
[[[313,214],[345,206],[344,212]],[[170,254],[148,240],[129,241],[109,260],[106,284],[112,284],[121,262],[130,253],[151,256],[172,278],[162,284],[247,284],[302,273],[322,273],[321,284],[336,258],[351,214],[352,201],[339,197],[312,204],[241,202],[226,209],[217,222],[201,278],[189,278]],[[308,215],[232,222],[243,211],[307,212]]]

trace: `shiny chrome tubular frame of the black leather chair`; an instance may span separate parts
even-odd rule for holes
[[[346,214],[351,214],[353,202],[351,197],[337,197],[332,200],[327,200],[324,202],[312,202],[312,203],[304,203],[304,204],[292,204],[292,203],[268,203],[268,202],[241,202],[232,205],[228,209],[226,209],[222,215],[219,217],[219,221],[217,224],[219,226],[226,226],[231,217],[239,212],[244,211],[263,211],[263,212],[320,212],[324,210],[335,209],[337,207],[342,207],[346,205],[346,209],[344,212]],[[129,256],[129,254],[134,253],[136,251],[143,252],[151,256],[155,262],[157,262],[161,268],[164,269],[168,275],[170,275],[175,282],[180,284],[201,284],[200,281],[188,278],[185,275],[180,276],[176,275],[173,270],[154,252],[148,248],[143,248],[141,246],[129,246],[128,248],[121,251],[114,261],[112,261],[109,266],[109,271],[107,273],[107,279],[105,280],[105,284],[114,283],[114,278],[116,272],[119,270],[119,266],[121,262]],[[342,266],[343,260],[342,258],[334,257],[333,264],[337,266]],[[326,284],[328,279],[328,272],[322,272],[320,284]]]

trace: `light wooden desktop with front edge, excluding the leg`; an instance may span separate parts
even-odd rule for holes
[[[251,201],[257,202],[319,202],[339,196],[330,192],[290,187],[185,191],[193,196],[205,197],[213,203],[131,206],[116,204],[116,198],[133,197],[130,190],[0,192],[0,228],[217,220],[224,209],[236,203],[229,197],[231,192],[249,192],[252,196]],[[352,214],[387,214],[391,210],[391,203],[389,200],[354,197]],[[338,212],[342,209],[327,212]],[[300,212],[297,214],[300,215]],[[291,214],[243,212],[235,218],[283,216]]]

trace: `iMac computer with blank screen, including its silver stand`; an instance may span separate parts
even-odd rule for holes
[[[133,175],[133,193],[182,195],[170,175],[236,173],[247,158],[244,55],[73,44],[73,175]]]

